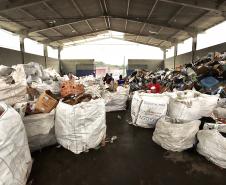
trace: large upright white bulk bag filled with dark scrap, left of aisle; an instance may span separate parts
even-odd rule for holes
[[[55,121],[58,143],[75,154],[97,147],[106,136],[105,115],[103,99],[74,106],[60,102]]]

